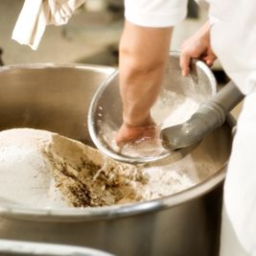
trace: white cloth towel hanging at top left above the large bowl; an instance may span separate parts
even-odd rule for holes
[[[25,0],[12,39],[36,50],[47,25],[66,24],[85,0]]]

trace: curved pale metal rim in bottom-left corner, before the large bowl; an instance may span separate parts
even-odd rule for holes
[[[0,255],[26,255],[26,256],[114,256],[93,248],[60,245],[31,243],[0,239]]]

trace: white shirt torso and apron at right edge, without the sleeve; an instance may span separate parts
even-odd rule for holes
[[[246,95],[224,184],[221,256],[255,256],[256,1],[211,2],[213,49]]]

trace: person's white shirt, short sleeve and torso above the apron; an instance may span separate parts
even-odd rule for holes
[[[256,57],[251,56],[256,47],[256,1],[237,0],[236,5],[233,0],[198,2],[210,4],[209,15],[214,21],[212,44],[226,73],[244,94],[252,92],[251,78],[256,77],[251,70],[256,66]],[[146,27],[175,26],[187,13],[187,0],[125,0],[125,6],[128,21]]]

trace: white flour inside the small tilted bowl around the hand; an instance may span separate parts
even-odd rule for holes
[[[144,138],[135,143],[127,144],[120,149],[115,143],[115,136],[118,130],[114,128],[115,126],[111,124],[109,118],[99,121],[101,122],[100,135],[113,151],[119,151],[123,155],[151,157],[153,155],[165,154],[168,151],[162,147],[159,138],[160,130],[184,123],[198,110],[198,105],[198,102],[192,98],[187,98],[163,89],[151,109],[151,116],[157,124],[156,136],[153,140]]]

